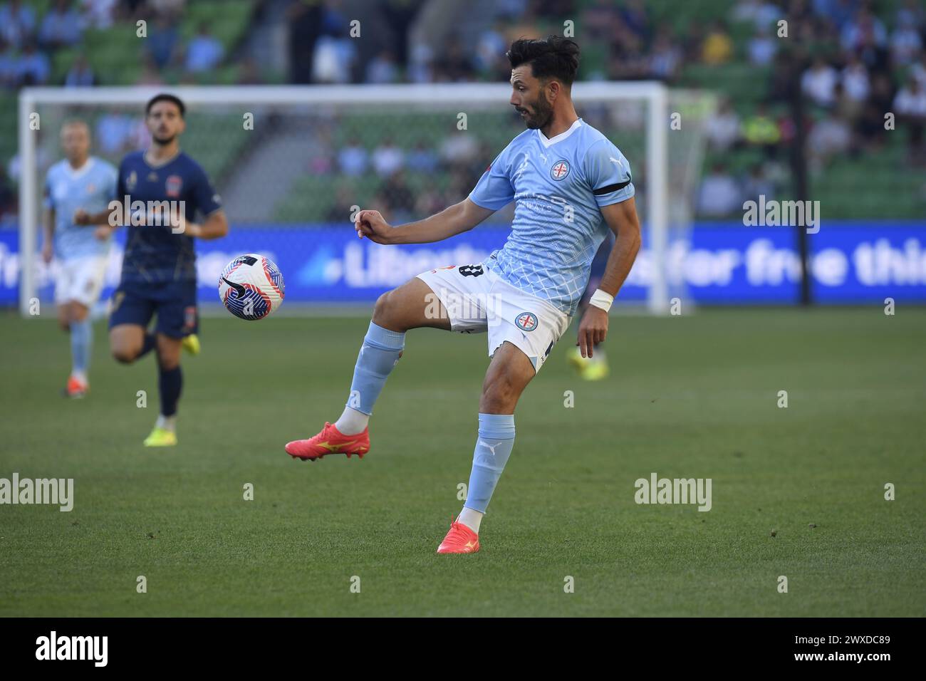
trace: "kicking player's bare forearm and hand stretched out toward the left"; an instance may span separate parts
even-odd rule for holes
[[[357,236],[377,244],[430,244],[454,234],[468,232],[495,211],[477,206],[465,198],[430,218],[393,227],[379,210],[360,210],[354,219]]]

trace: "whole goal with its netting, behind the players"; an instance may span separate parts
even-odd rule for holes
[[[447,264],[478,262],[504,244],[513,206],[444,242],[379,246],[358,240],[353,213],[376,208],[393,224],[464,198],[488,163],[524,130],[507,84],[176,87],[187,106],[181,147],[206,170],[229,236],[199,242],[199,298],[218,303],[219,271],[242,253],[274,260],[288,312],[369,311],[383,291]],[[19,95],[19,307],[52,303],[57,263],[39,257],[44,176],[66,120],[85,120],[92,154],[114,165],[149,138],[152,88],[26,88]],[[681,257],[701,172],[711,95],[657,82],[582,82],[573,99],[631,163],[644,246],[614,309],[669,309],[684,296]],[[103,300],[119,281],[117,233]],[[0,243],[0,248],[13,249]],[[673,265],[673,261],[677,265]],[[12,302],[12,301],[10,301]]]

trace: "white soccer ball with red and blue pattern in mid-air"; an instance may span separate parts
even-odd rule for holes
[[[219,275],[219,299],[243,320],[269,316],[282,305],[285,291],[280,270],[257,253],[233,259]]]

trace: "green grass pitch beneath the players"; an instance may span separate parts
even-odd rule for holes
[[[469,477],[484,334],[408,334],[364,460],[283,453],[340,414],[367,323],[206,319],[180,446],[150,450],[152,358],[117,364],[98,322],[93,392],[67,401],[67,336],[0,317],[0,477],[75,486],[70,512],[0,506],[0,616],[926,614],[926,310],[617,316],[598,384],[566,365],[573,324],[470,556],[434,550]],[[713,508],[637,505],[654,472],[711,478]]]

